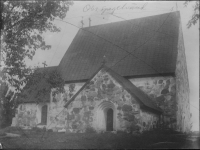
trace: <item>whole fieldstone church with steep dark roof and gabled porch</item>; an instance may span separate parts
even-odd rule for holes
[[[178,11],[82,28],[60,64],[41,70],[58,71],[65,92],[49,93],[41,103],[31,95],[21,99],[12,126],[75,133],[190,130]]]

